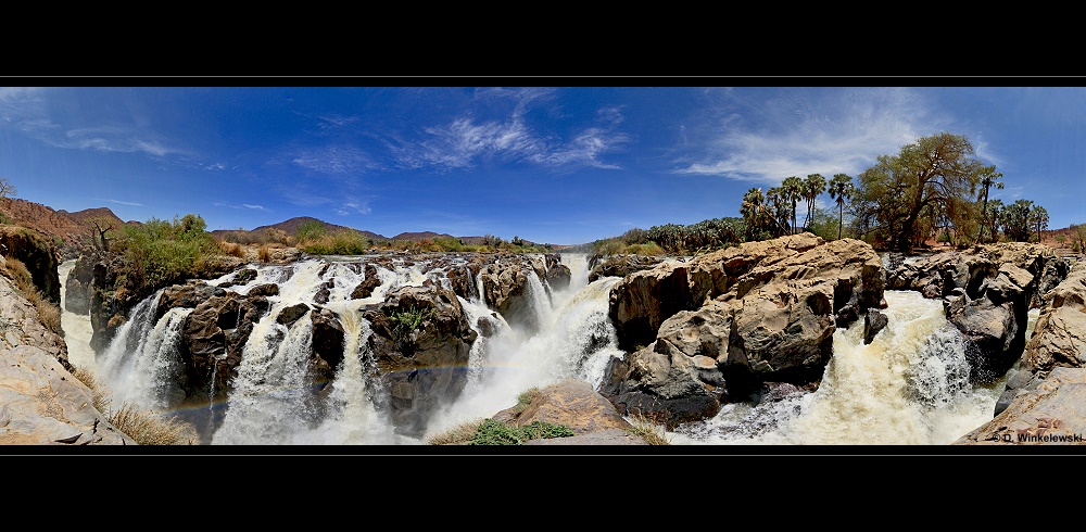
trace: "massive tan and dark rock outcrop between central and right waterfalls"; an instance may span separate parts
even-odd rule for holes
[[[748,242],[627,276],[611,289],[619,345],[601,392],[619,411],[679,423],[766,382],[821,379],[833,331],[884,305],[870,245],[810,233]]]

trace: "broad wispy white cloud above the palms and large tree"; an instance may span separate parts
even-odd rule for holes
[[[750,107],[754,118],[721,112],[703,160],[677,173],[771,183],[815,173],[856,175],[938,124],[909,88],[795,89],[766,101],[743,100],[743,89],[725,94],[725,107]]]

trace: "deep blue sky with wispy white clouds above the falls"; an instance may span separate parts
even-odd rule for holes
[[[252,229],[313,216],[386,237],[574,244],[738,216],[750,187],[855,177],[949,131],[1002,172],[990,198],[1032,200],[1051,228],[1086,223],[1086,87],[873,80],[0,87],[0,177],[16,198],[126,220],[193,213],[209,229]]]

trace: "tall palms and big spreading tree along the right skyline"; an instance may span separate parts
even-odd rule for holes
[[[974,156],[969,139],[948,132],[906,144],[897,155],[880,155],[856,183],[846,174],[829,182],[819,174],[786,177],[765,193],[750,188],[740,214],[743,240],[766,240],[799,230],[825,240],[860,238],[876,249],[908,252],[929,240],[964,246],[1002,239],[1039,241],[1048,228],[1045,207],[1028,200],[1003,205],[989,199],[1003,188],[1002,174]],[[818,207],[829,192],[836,216]],[[807,216],[798,226],[797,205]],[[835,218],[835,219],[834,219]],[[665,245],[667,248],[667,245]]]

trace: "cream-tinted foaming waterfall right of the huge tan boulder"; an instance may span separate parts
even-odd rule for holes
[[[833,335],[812,393],[725,405],[672,444],[940,445],[992,419],[1000,387],[971,388],[964,342],[938,300],[886,291],[889,324],[863,344],[862,320]]]

